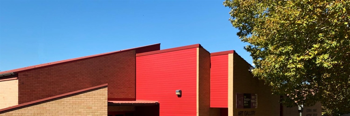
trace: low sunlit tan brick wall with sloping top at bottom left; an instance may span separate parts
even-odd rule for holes
[[[0,116],[106,116],[107,87],[0,112]]]

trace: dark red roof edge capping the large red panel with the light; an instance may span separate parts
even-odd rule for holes
[[[139,53],[139,54],[136,54],[136,56],[159,54],[159,53],[179,51],[179,50],[183,50],[183,49],[190,49],[190,48],[196,48],[196,47],[202,47],[202,46],[201,46],[201,44],[194,44],[194,45],[188,45],[188,46],[174,47],[174,48],[169,48],[169,49],[162,49],[162,50],[159,50],[159,51],[151,51],[151,52]]]

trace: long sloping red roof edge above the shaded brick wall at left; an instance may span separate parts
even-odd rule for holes
[[[24,68],[18,68],[18,69],[13,69],[13,70],[7,70],[7,71],[0,72],[0,74],[5,74],[5,73],[9,73],[9,72],[16,72],[16,73],[25,72],[25,71],[30,71],[30,70],[50,67],[50,66],[54,66],[54,65],[59,65],[59,64],[65,64],[65,63],[70,63],[70,62],[75,62],[75,61],[80,61],[80,60],[92,59],[92,58],[95,58],[95,57],[101,57],[101,56],[116,54],[116,53],[120,53],[120,52],[126,52],[126,51],[141,49],[141,48],[147,48],[147,47],[151,47],[151,46],[160,46],[160,43],[147,45],[147,46],[141,46],[141,47],[135,47],[135,48],[130,48],[130,49],[123,49],[123,50],[120,50],[120,51],[107,52],[107,53],[95,54],[95,55],[90,55],[90,56],[83,56],[83,57],[78,57],[78,58],[73,58],[73,59],[68,59],[68,60],[61,60],[61,61],[55,61],[55,62],[50,62],[50,63],[38,64],[38,65],[33,65],[33,66],[24,67]]]

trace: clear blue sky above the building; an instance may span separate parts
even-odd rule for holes
[[[0,70],[161,43],[235,50],[248,63],[222,0],[0,0]]]

